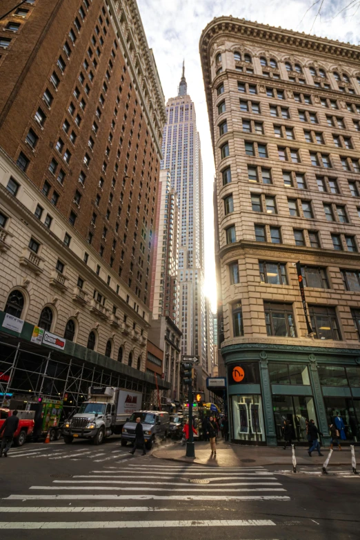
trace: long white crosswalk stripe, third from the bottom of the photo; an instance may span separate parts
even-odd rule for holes
[[[93,489],[93,488],[91,488]],[[152,494],[26,494],[9,495],[3,501],[199,501],[199,495],[152,495]],[[201,501],[290,501],[287,495],[202,495]]]

